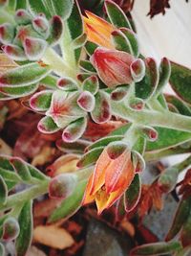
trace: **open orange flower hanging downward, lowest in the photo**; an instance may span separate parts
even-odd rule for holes
[[[98,214],[113,205],[135,175],[131,151],[125,143],[111,143],[100,154],[86,187],[83,204],[96,200]]]

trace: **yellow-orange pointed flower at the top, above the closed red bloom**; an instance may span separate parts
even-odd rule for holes
[[[116,28],[92,12],[86,11],[86,15],[88,17],[84,16],[83,20],[88,40],[100,46],[115,49],[111,40],[111,34]]]

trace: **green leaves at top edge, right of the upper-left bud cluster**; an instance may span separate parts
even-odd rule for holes
[[[72,12],[74,5],[73,0],[28,0],[28,2],[29,9],[32,13],[38,14],[40,12],[43,12],[47,16],[47,18],[51,18],[53,15],[59,15],[63,19],[66,19]]]

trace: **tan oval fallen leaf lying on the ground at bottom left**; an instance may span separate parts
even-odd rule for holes
[[[33,231],[33,240],[56,249],[65,249],[74,244],[70,233],[55,225],[36,226]]]

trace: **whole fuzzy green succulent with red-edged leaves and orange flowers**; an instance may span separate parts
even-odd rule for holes
[[[60,199],[49,222],[94,201],[98,215],[114,207],[117,220],[132,213],[142,219],[157,199],[180,186],[166,242],[140,245],[131,253],[184,255],[191,250],[190,170],[180,183],[178,176],[191,157],[156,176],[147,198],[141,172],[146,162],[191,150],[191,70],[167,58],[158,64],[142,56],[134,25],[117,3],[97,1],[98,15],[81,12],[79,4],[0,1],[0,101],[19,99],[40,117],[36,128],[55,135],[54,147],[63,152],[51,175],[30,159],[0,155],[3,244],[15,241],[15,255],[26,255],[32,201],[46,194]],[[168,82],[175,95],[163,93]],[[7,113],[1,114],[6,119]],[[54,175],[74,159],[73,172]]]

